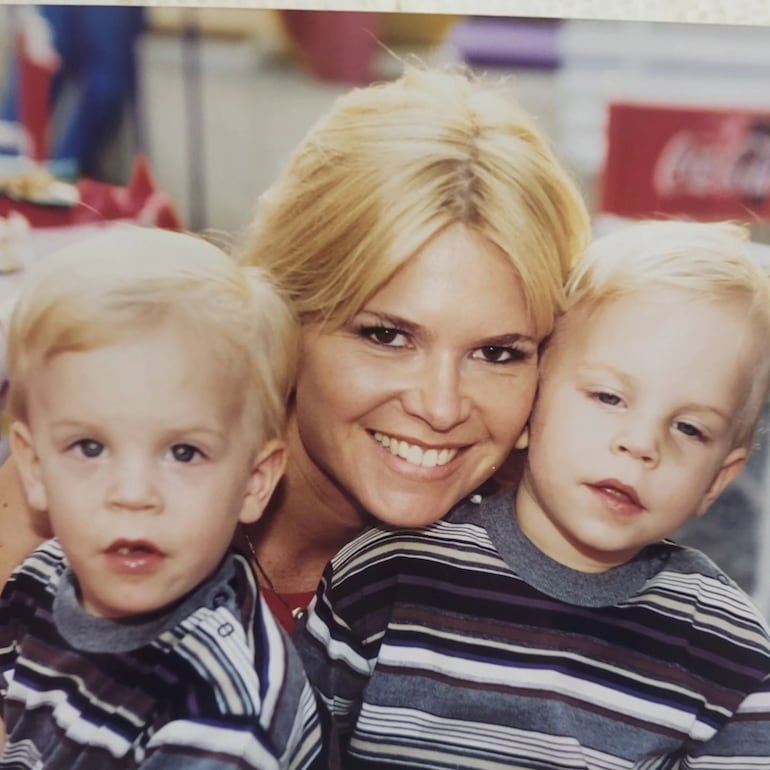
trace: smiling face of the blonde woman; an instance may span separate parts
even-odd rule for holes
[[[290,462],[322,495],[430,524],[526,445],[539,341],[508,260],[454,225],[341,329],[306,327]]]

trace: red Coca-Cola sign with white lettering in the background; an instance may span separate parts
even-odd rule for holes
[[[770,216],[770,113],[613,104],[600,208],[619,216]]]

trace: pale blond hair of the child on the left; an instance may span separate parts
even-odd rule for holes
[[[12,416],[27,419],[38,364],[167,322],[203,348],[201,366],[225,378],[223,398],[241,406],[255,442],[283,435],[298,327],[267,275],[200,238],[139,227],[69,246],[28,276],[8,333]]]

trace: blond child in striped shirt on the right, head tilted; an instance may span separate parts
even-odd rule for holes
[[[334,558],[295,644],[343,767],[770,767],[770,629],[667,539],[741,472],[768,396],[770,278],[744,236],[597,240],[518,488]]]

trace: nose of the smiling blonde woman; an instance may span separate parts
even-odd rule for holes
[[[471,399],[465,392],[461,364],[436,355],[422,362],[403,396],[404,409],[436,431],[448,431],[468,419]]]

